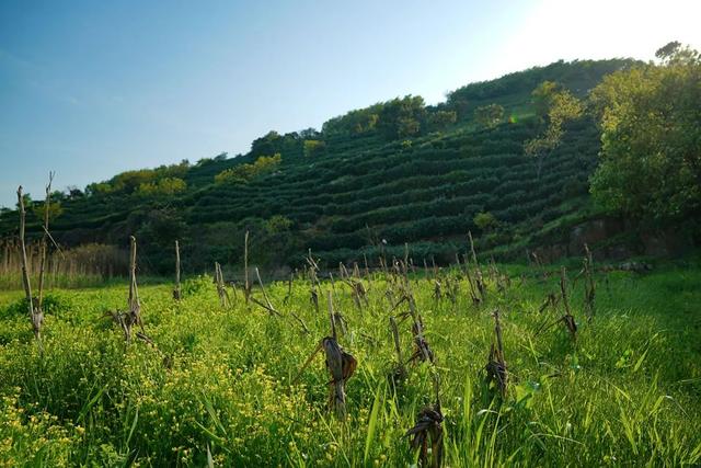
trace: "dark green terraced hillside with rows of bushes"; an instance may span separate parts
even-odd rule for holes
[[[468,230],[483,251],[522,255],[543,229],[586,218],[599,150],[594,123],[573,122],[538,179],[522,149],[539,130],[531,91],[548,80],[583,96],[631,64],[560,61],[469,84],[436,106],[395,99],[332,118],[321,132],[272,132],[246,155],[118,174],[56,194],[61,214],[51,232],[64,247],[126,246],[135,235],[154,273],[172,270],[175,239],[188,271],[241,263],[246,230],[251,260],[271,266],[300,265],[308,249],[334,265],[375,259],[379,249],[403,252],[404,243],[417,262],[448,262]],[[503,113],[475,118],[492,104]],[[478,214],[486,217],[480,226]],[[30,216],[31,236],[39,235],[37,219]],[[16,236],[16,213],[0,215],[0,236]]]

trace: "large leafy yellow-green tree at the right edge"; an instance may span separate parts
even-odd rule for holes
[[[701,59],[679,43],[657,57],[593,91],[602,148],[590,191],[630,217],[678,220],[701,209]]]

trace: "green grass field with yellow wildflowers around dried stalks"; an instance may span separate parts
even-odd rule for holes
[[[562,323],[537,334],[562,313],[539,312],[547,294],[559,292],[558,275],[502,270],[510,287],[497,293],[490,283],[480,307],[463,278],[455,304],[435,300],[426,278],[411,282],[436,356],[446,466],[701,463],[698,263],[645,275],[598,273],[590,323],[584,282],[574,283],[572,270],[576,342]],[[323,353],[290,385],[330,334],[331,283],[322,284],[319,313],[308,282],[294,283],[287,304],[287,284],[267,286],[283,317],[246,307],[241,293],[225,309],[210,282],[188,281],[180,303],[171,285],[143,286],[141,313],[156,347],[141,341],[126,347],[122,330],[103,318],[126,308],[125,284],[51,290],[43,353],[22,293],[0,292],[0,466],[416,464],[404,434],[434,402],[433,369],[410,364],[407,379],[391,384],[397,357],[389,317],[405,307],[390,312],[380,275],[364,283],[369,307],[363,310],[348,286],[334,287],[335,308],[347,321],[338,341],[358,361],[346,385],[345,421],[327,409]],[[260,289],[253,294],[263,300]],[[484,383],[497,308],[510,379],[503,400]],[[399,329],[407,357],[410,322]]]

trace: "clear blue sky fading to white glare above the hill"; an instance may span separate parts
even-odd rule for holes
[[[0,206],[560,58],[701,46],[698,0],[0,2]]]

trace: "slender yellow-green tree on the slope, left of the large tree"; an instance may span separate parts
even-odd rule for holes
[[[536,158],[537,176],[540,179],[543,160],[554,150],[565,133],[564,125],[579,117],[584,107],[578,99],[558,84],[545,81],[532,92],[536,114],[545,129],[536,138],[524,144],[524,152]]]

